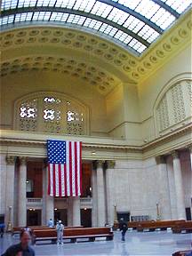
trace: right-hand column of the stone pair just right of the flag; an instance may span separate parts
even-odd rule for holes
[[[113,202],[113,170],[115,167],[115,161],[107,161],[106,169],[106,208],[107,208],[107,222],[110,225],[114,225],[114,202]]]

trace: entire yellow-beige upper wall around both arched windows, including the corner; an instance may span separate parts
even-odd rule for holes
[[[39,91],[63,92],[90,109],[91,135],[122,138],[129,145],[142,145],[157,136],[156,100],[163,97],[172,83],[191,76],[190,50],[188,46],[141,84],[119,84],[106,97],[90,84],[60,73],[31,71],[5,76],[1,87],[1,126],[12,129],[13,104],[20,97]],[[186,108],[190,114],[190,106]]]

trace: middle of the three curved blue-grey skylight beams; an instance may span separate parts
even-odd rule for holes
[[[135,18],[143,21],[144,23],[146,23],[150,28],[153,28],[156,30],[156,32],[158,32],[159,34],[163,34],[164,30],[160,27],[158,27],[156,25],[156,23],[152,22],[151,20],[148,20],[146,17],[144,17],[143,15],[141,15],[139,12],[135,12],[134,10],[132,10],[131,8],[124,6],[123,4],[118,4],[116,2],[113,2],[111,0],[98,0],[100,3],[104,3],[104,4],[108,4],[111,5],[113,7],[116,7],[117,9],[124,11],[126,13],[129,13],[130,15],[134,16]]]

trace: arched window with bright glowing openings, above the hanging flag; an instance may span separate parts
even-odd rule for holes
[[[15,102],[14,129],[84,135],[89,132],[89,111],[62,93],[38,92]]]

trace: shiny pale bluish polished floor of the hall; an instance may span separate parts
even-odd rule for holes
[[[164,255],[172,252],[190,250],[192,234],[172,234],[172,232],[127,232],[126,241],[121,242],[120,232],[115,232],[113,241],[96,241],[64,245],[37,244],[36,255]],[[18,238],[10,235],[0,238],[0,252],[11,244],[18,243]]]

